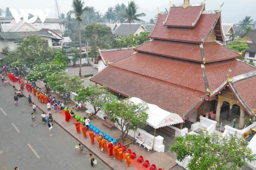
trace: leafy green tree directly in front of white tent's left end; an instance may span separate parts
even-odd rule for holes
[[[135,104],[129,98],[106,102],[102,109],[105,116],[120,127],[122,140],[130,130],[136,131],[138,127],[145,126],[148,119],[148,105],[145,102]]]

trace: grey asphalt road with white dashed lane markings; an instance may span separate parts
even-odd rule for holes
[[[71,137],[56,123],[53,125],[53,136],[49,136],[47,125],[43,125],[40,114],[36,114],[37,125],[31,121],[32,108],[26,98],[19,98],[14,106],[13,89],[0,83],[0,169],[10,170],[18,166],[20,170],[84,170],[110,169],[98,160],[92,168],[89,162],[89,151],[85,155],[75,149],[78,141]],[[54,117],[53,117],[54,118]]]

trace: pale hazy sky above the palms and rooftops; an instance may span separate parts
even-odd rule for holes
[[[72,9],[72,0],[57,0],[60,13],[67,14]],[[157,6],[160,11],[169,10],[169,0],[134,0],[139,6],[138,13],[144,12],[145,17],[140,19],[148,22],[150,18],[154,18],[157,14]],[[172,4],[182,4],[183,0],[171,0]],[[190,4],[199,4],[203,0],[190,0]],[[246,15],[256,21],[256,0],[206,0],[206,11],[218,10],[224,2],[221,12],[221,20],[223,23],[239,22]],[[93,6],[96,11],[100,11],[103,15],[108,7],[114,7],[117,3],[128,5],[128,0],[84,0],[85,6]],[[1,0],[0,9],[51,9],[47,18],[55,18],[55,0]],[[18,11],[18,13],[20,13]]]

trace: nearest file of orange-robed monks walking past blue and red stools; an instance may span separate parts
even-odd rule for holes
[[[81,129],[82,129],[82,134],[85,138],[87,138],[87,128],[86,126],[82,125],[81,129],[80,129],[80,121],[76,120],[75,123],[76,126],[76,131],[81,134]],[[94,144],[94,137],[95,134],[93,131],[90,131],[89,136],[91,138],[91,144]],[[113,157],[113,153],[114,153],[114,159],[118,159],[119,162],[122,162],[123,160],[123,149],[121,148],[121,146],[116,145],[114,146],[113,141],[112,142],[108,142],[107,140],[102,137],[101,135],[97,138],[98,144],[99,144],[99,149],[105,153],[107,153],[108,151],[108,155],[110,157]],[[130,153],[125,153],[124,155],[125,159],[126,159],[126,166],[131,166],[131,158],[130,158]]]

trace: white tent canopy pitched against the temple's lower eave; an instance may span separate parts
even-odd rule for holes
[[[141,99],[135,97],[131,98],[131,101],[135,104],[142,102]],[[155,129],[183,122],[183,119],[176,113],[170,113],[154,104],[147,103],[147,105],[148,120],[146,123]]]

